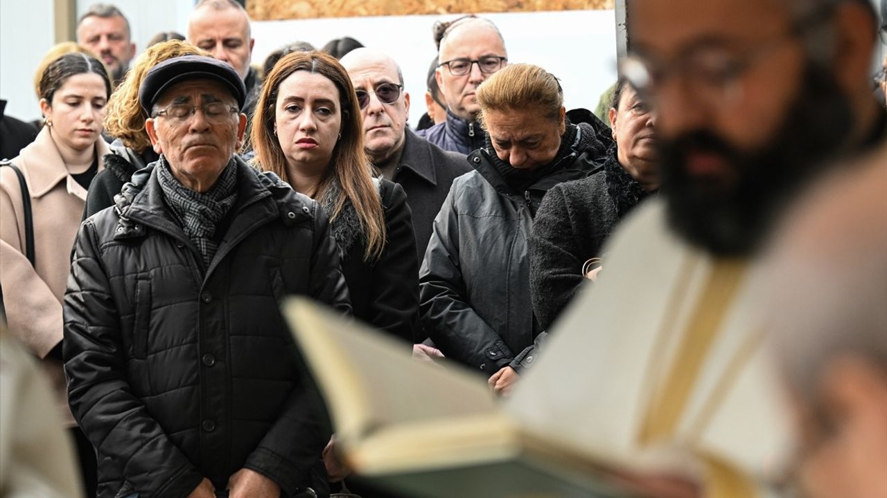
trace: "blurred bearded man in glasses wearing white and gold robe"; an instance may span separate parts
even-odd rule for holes
[[[627,14],[621,71],[657,113],[661,194],[611,237],[515,397],[581,413],[588,440],[679,445],[698,463],[690,490],[761,496],[792,442],[752,269],[808,180],[885,144],[875,14],[867,0],[634,0]]]

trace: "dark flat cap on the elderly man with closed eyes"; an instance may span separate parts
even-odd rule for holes
[[[225,88],[231,90],[232,97],[237,99],[238,108],[243,109],[243,104],[247,100],[247,88],[243,85],[240,75],[228,63],[201,55],[170,58],[153,66],[145,75],[142,86],[138,88],[138,102],[150,116],[151,108],[164,90],[176,83],[190,80],[212,80],[222,83]]]

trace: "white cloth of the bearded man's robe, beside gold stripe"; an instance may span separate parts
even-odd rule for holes
[[[661,199],[632,214],[611,239],[597,282],[554,324],[538,364],[509,401],[525,424],[548,432],[570,427],[561,431],[565,442],[609,454],[643,447],[639,434],[651,396],[668,377],[714,263],[673,235],[664,214]],[[778,381],[755,339],[763,329],[752,273],[748,268],[726,308],[667,443],[717,455],[762,479],[781,471],[791,435]],[[686,293],[677,291],[681,282]]]

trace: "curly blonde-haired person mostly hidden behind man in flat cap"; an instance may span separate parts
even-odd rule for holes
[[[126,78],[114,90],[105,113],[105,132],[115,140],[111,144],[112,153],[104,158],[105,170],[96,176],[90,187],[83,210],[84,220],[114,206],[114,196],[120,193],[124,183],[130,181],[132,174],[160,159],[145,131],[148,116],[138,103],[138,87],[153,66],[184,55],[209,56],[209,52],[178,40],[153,44],[138,56]]]

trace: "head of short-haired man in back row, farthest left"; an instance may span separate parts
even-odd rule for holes
[[[101,58],[114,82],[120,82],[136,57],[130,21],[111,4],[94,4],[77,21],[77,43]]]

